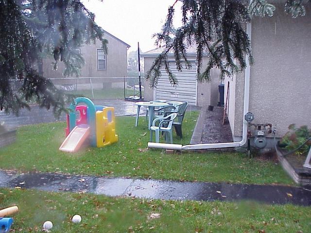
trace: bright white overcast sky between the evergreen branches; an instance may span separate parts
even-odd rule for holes
[[[169,6],[175,0],[84,0],[86,8],[93,12],[96,23],[131,46],[130,50],[145,52],[155,48],[154,33],[161,30]],[[181,2],[175,5],[174,25],[181,25]]]

